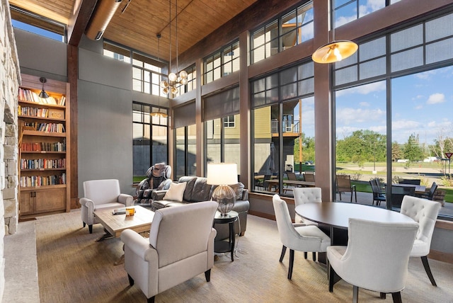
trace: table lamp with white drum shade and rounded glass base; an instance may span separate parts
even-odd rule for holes
[[[217,201],[217,209],[226,215],[234,206],[236,193],[229,185],[238,183],[238,168],[235,163],[207,164],[207,184],[218,185],[212,192],[212,201]]]

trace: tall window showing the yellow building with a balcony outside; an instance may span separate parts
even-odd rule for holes
[[[289,67],[252,82],[253,190],[292,195],[286,171],[314,171],[314,65]],[[268,181],[273,179],[273,181]]]

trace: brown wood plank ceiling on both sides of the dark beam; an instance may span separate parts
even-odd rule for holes
[[[103,38],[168,61],[170,40],[171,57],[176,58],[176,12],[178,54],[181,54],[256,1],[122,0]],[[82,4],[82,0],[10,0],[9,2],[66,25],[71,23],[71,18],[74,20],[74,15]],[[161,33],[159,54],[156,38],[158,33]]]

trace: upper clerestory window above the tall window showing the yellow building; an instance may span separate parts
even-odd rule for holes
[[[313,38],[313,1],[266,23],[251,33],[251,62],[256,63]]]

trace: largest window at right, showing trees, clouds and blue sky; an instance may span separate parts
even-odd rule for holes
[[[426,188],[435,182],[440,200],[453,187],[445,156],[453,150],[452,47],[449,13],[362,42],[335,64],[337,172],[357,188],[374,178],[386,183],[383,207],[398,209],[403,195],[414,194],[401,190],[404,179]]]

